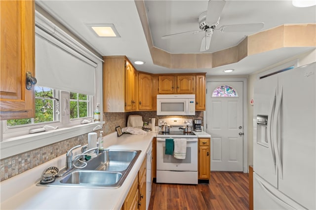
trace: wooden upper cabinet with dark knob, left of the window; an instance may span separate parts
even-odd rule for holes
[[[35,76],[35,2],[0,1],[0,119],[35,117],[35,90],[26,89],[26,72]]]

